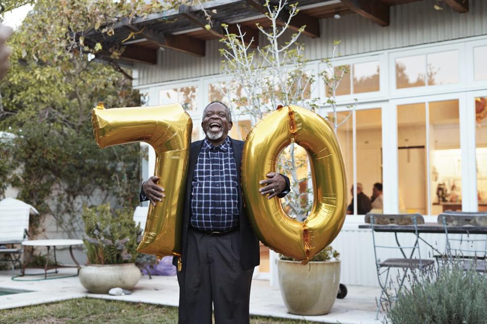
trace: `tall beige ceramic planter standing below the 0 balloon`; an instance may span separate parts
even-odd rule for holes
[[[340,285],[340,261],[277,260],[279,285],[288,311],[297,315],[328,314]]]

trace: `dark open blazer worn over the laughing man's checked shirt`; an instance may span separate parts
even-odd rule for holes
[[[239,231],[240,231],[240,259],[244,269],[250,269],[255,266],[259,265],[260,262],[260,251],[259,251],[259,240],[257,236],[255,236],[254,231],[247,219],[247,214],[245,212],[245,208],[243,208],[243,194],[241,189],[241,181],[240,181],[240,167],[241,167],[241,159],[242,159],[242,150],[243,150],[243,141],[238,141],[230,138],[230,142],[232,143],[233,148],[233,156],[235,158],[235,167],[237,169],[237,188],[238,188],[238,206],[239,206]],[[190,227],[190,219],[191,219],[191,187],[192,187],[192,180],[193,180],[193,173],[194,168],[196,166],[196,162],[198,160],[198,154],[201,150],[201,146],[203,145],[203,140],[196,141],[191,143],[190,148],[190,158],[189,158],[189,170],[188,176],[186,179],[186,194],[185,194],[185,202],[184,202],[184,211],[183,211],[183,229],[181,233],[181,248],[182,248],[182,261],[183,261],[183,268],[186,261],[186,251],[188,246],[188,230]],[[284,175],[283,175],[284,176]],[[284,176],[286,179],[287,188],[284,192],[279,194],[279,197],[284,197],[290,190],[290,182],[289,178]],[[142,192],[141,192],[142,197]],[[141,199],[142,200],[142,199]],[[172,259],[172,264],[177,266],[178,265],[178,257],[174,257]]]

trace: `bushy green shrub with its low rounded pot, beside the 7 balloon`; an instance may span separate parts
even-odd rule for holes
[[[113,212],[110,205],[84,208],[83,239],[88,265],[80,270],[80,282],[90,293],[107,294],[112,288],[131,290],[141,278],[135,266],[141,229],[130,210]]]

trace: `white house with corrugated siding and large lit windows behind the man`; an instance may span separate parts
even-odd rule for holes
[[[210,31],[193,7],[119,25],[118,41],[132,32],[124,43],[130,51],[120,62],[132,68],[133,88],[148,105],[184,104],[193,119],[193,140],[204,138],[202,109],[224,99],[215,87],[225,82],[217,21],[239,23],[257,36],[255,22],[266,19],[260,5],[255,0],[204,3],[217,10]],[[339,119],[358,101],[338,131],[349,185],[362,183],[370,196],[380,182],[384,213],[418,212],[427,221],[436,222],[435,215],[447,209],[487,210],[487,2],[329,0],[302,1],[298,8],[304,16],[296,26],[310,26],[300,38],[307,70],[323,70],[334,40],[341,41],[336,64],[349,67],[337,96]],[[264,42],[258,38],[260,46]],[[311,97],[326,101],[322,80],[311,87]],[[321,105],[321,115],[330,112]],[[250,118],[235,119],[231,136],[245,138]],[[147,178],[154,155],[143,149],[149,156],[143,168]],[[363,221],[361,215],[347,216],[333,246],[342,255],[341,282],[376,286],[371,235],[358,229]],[[274,258],[262,249],[259,276],[271,282]]]

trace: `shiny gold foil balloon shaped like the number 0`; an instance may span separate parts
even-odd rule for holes
[[[259,180],[276,171],[277,158],[291,142],[310,157],[315,200],[304,222],[286,215],[279,198],[258,192]],[[272,250],[307,263],[338,235],[346,213],[343,157],[333,129],[321,116],[286,106],[262,119],[247,136],[242,153],[242,189],[249,220]]]

